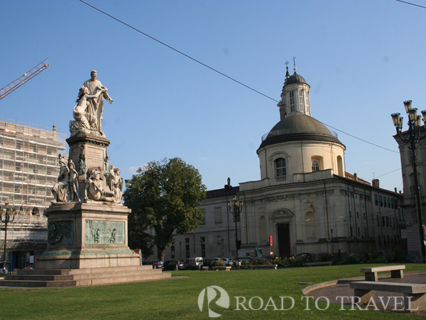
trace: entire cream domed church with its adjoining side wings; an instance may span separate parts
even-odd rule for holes
[[[203,224],[176,235],[166,259],[236,257],[256,248],[279,257],[405,250],[403,195],[345,171],[346,147],[312,117],[310,85],[296,70],[287,70],[278,107],[280,121],[256,151],[261,179],[208,191],[199,206]],[[236,217],[227,206],[233,197],[244,203]],[[177,243],[185,243],[185,255]]]

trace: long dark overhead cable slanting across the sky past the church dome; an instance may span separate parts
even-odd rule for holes
[[[229,80],[232,80],[232,81],[234,81],[234,82],[238,83],[239,85],[242,85],[242,86],[246,87],[247,89],[252,90],[253,92],[258,93],[259,95],[263,95],[263,97],[267,97],[268,99],[270,99],[270,100],[272,100],[272,101],[274,101],[274,102],[277,102],[277,103],[279,102],[278,100],[275,100],[273,97],[269,97],[268,95],[265,95],[264,93],[262,93],[262,92],[260,92],[260,91],[258,91],[258,90],[256,90],[256,89],[254,89],[253,87],[250,87],[249,85],[245,85],[243,82],[241,82],[241,81],[239,81],[239,80],[236,80],[236,79],[234,79],[234,78],[230,77],[229,75],[226,75],[226,74],[224,74],[224,73],[220,72],[219,70],[214,69],[214,68],[210,67],[209,65],[206,65],[205,63],[202,63],[200,60],[197,60],[197,59],[195,59],[195,58],[192,58],[190,55],[187,55],[186,53],[183,53],[182,51],[180,51],[180,50],[178,50],[178,49],[176,49],[176,48],[173,48],[172,46],[169,46],[167,43],[164,43],[163,41],[160,41],[160,40],[158,40],[157,38],[154,38],[153,36],[150,36],[150,35],[148,35],[147,33],[144,33],[143,31],[139,30],[138,28],[135,28],[135,27],[133,27],[133,26],[129,25],[128,23],[126,23],[126,22],[124,22],[124,21],[121,21],[119,18],[116,18],[116,17],[114,17],[114,16],[111,16],[110,14],[107,14],[107,12],[102,11],[101,9],[98,9],[97,7],[92,6],[91,4],[88,4],[87,2],[85,2],[85,1],[83,1],[83,0],[79,0],[79,1],[80,1],[80,2],[82,2],[83,4],[86,4],[87,6],[91,7],[92,9],[95,9],[95,10],[99,11],[100,13],[104,14],[105,16],[109,16],[109,18],[112,18],[112,19],[114,19],[115,21],[117,21],[117,22],[119,22],[119,23],[124,24],[124,26],[128,26],[129,28],[133,29],[134,31],[136,31],[136,32],[138,32],[138,33],[143,34],[143,36],[146,36],[146,37],[150,38],[151,40],[156,41],[156,42],[158,42],[158,43],[162,44],[163,46],[165,46],[165,47],[167,47],[167,48],[169,48],[169,49],[171,49],[171,50],[173,50],[173,51],[175,51],[175,52],[177,52],[177,53],[179,53],[179,54],[181,54],[181,55],[185,56],[186,58],[188,58],[188,59],[190,59],[190,60],[192,60],[192,61],[195,61],[196,63],[199,63],[200,65],[202,65],[202,66],[204,66],[204,67],[208,68],[209,70],[212,70],[212,71],[214,71],[215,73],[219,73],[219,75],[223,75],[225,78],[228,78]],[[400,0],[396,0],[396,1],[400,1]],[[400,1],[400,2],[405,2],[405,1]],[[409,3],[408,3],[408,4],[409,4]],[[371,144],[372,146],[376,146],[376,147],[378,147],[378,148],[381,148],[381,149],[384,149],[384,150],[391,151],[391,152],[394,152],[394,153],[396,153],[396,154],[399,154],[399,152],[398,152],[398,151],[395,151],[395,150],[391,150],[391,149],[385,148],[384,146],[379,146],[378,144],[373,144],[372,142],[368,142],[368,141],[366,141],[366,140],[364,140],[364,139],[361,139],[361,138],[359,138],[359,137],[356,137],[356,136],[354,136],[353,134],[349,134],[349,133],[344,132],[344,131],[342,131],[342,130],[339,130],[339,129],[335,128],[335,127],[332,127],[332,126],[330,126],[329,124],[325,124],[324,122],[321,122],[321,123],[322,123],[322,124],[324,124],[324,125],[325,125],[325,126],[327,126],[327,127],[330,127],[330,128],[332,128],[332,129],[334,129],[334,130],[338,131],[338,132],[342,132],[343,134],[346,134],[346,135],[348,135],[349,137],[352,137],[352,138],[354,138],[354,139],[358,139],[358,140],[359,140],[359,141],[361,141],[361,142],[365,142],[366,144]]]

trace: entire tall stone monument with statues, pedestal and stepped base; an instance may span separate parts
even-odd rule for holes
[[[66,140],[70,155],[68,159],[59,155],[58,182],[52,189],[55,200],[46,209],[47,250],[37,257],[37,270],[20,270],[20,274],[58,274],[54,272],[57,270],[73,276],[72,281],[58,282],[58,286],[170,277],[170,273],[162,274],[151,265],[141,266],[139,255],[129,249],[127,217],[131,210],[121,203],[120,169],[109,164],[110,142],[102,132],[103,100],[113,102],[107,87],[92,70],[91,78],[80,87],[72,110],[74,119]],[[121,274],[121,279],[117,274]],[[18,276],[11,275],[6,280]]]

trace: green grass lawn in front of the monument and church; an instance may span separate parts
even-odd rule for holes
[[[219,319],[425,319],[408,314],[381,311],[339,310],[340,304],[330,304],[323,311],[310,302],[305,310],[302,289],[296,282],[326,282],[332,279],[361,276],[359,269],[366,265],[341,265],[280,270],[174,271],[176,279],[114,284],[106,286],[52,289],[0,289],[0,319],[211,319],[205,307],[197,306],[197,299],[207,286],[219,286],[231,298],[228,309],[210,307],[222,314]],[[368,265],[371,266],[371,265]],[[425,265],[406,265],[406,271],[425,270]],[[262,309],[235,310],[236,298],[263,299]],[[293,297],[295,305],[288,311],[274,310],[270,297],[281,309],[279,297]],[[257,309],[259,298],[253,299]],[[214,300],[215,301],[215,300]],[[285,298],[289,308],[290,298]],[[204,305],[205,306],[205,305]],[[325,302],[319,302],[325,308]],[[283,308],[283,309],[284,309]],[[241,308],[240,308],[241,309]],[[409,317],[409,318],[408,318]]]

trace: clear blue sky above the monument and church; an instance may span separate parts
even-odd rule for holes
[[[87,2],[274,100],[295,56],[313,117],[393,150],[332,129],[346,171],[403,188],[391,113],[403,114],[404,100],[426,109],[426,9],[394,0]],[[50,63],[0,101],[0,116],[55,123],[68,137],[78,89],[95,69],[114,99],[102,128],[124,178],[175,156],[210,190],[228,176],[233,186],[260,178],[256,149],[279,121],[273,100],[78,0],[3,1],[0,21],[0,87]]]

